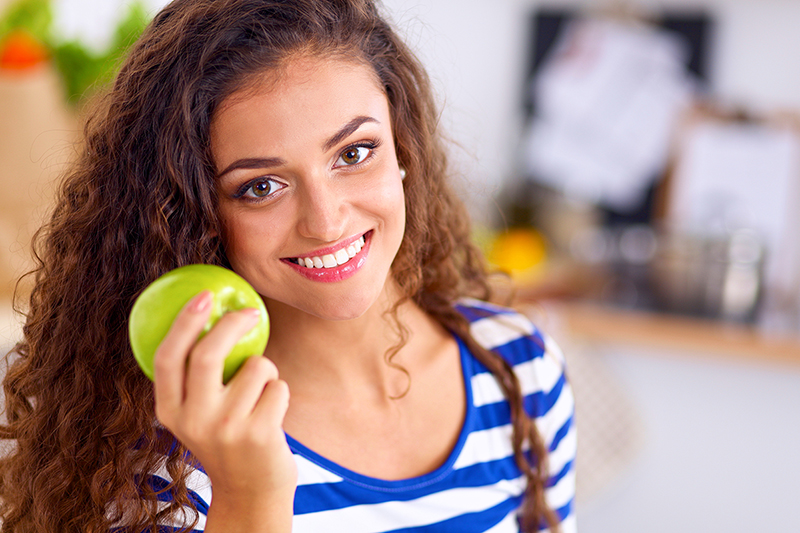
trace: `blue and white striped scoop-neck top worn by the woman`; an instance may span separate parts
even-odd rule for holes
[[[549,451],[545,498],[563,533],[576,530],[574,402],[564,357],[523,315],[464,300],[475,340],[514,368],[525,400]],[[459,341],[467,414],[448,460],[420,477],[387,481],[349,471],[287,436],[297,462],[294,533],[518,533],[517,509],[525,492],[511,446],[510,408],[494,376]],[[162,469],[154,482],[166,482]],[[189,479],[198,499],[202,531],[211,485],[202,471]],[[188,513],[193,514],[191,511]],[[177,523],[165,524],[172,531]]]

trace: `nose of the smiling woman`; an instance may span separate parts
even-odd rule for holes
[[[314,179],[301,187],[297,230],[303,237],[333,242],[346,236],[347,202],[334,181]]]

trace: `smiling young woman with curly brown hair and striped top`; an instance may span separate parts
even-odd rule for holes
[[[2,530],[573,531],[563,358],[484,303],[437,117],[369,0],[158,14],[39,236]],[[154,387],[127,316],[191,263],[256,288],[269,345],[223,385],[255,322],[230,313],[197,342],[201,292]]]

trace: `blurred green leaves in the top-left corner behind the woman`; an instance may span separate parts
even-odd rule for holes
[[[131,2],[111,43],[101,53],[79,40],[59,40],[53,28],[51,0],[17,0],[0,17],[0,47],[14,32],[25,31],[39,41],[52,58],[64,85],[67,101],[78,105],[114,78],[125,53],[142,34],[150,16],[141,0]]]

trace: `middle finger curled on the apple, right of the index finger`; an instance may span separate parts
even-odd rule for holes
[[[210,391],[222,390],[225,358],[242,336],[258,323],[258,309],[242,309],[226,313],[197,342],[189,356],[186,379],[186,401],[204,404]]]

